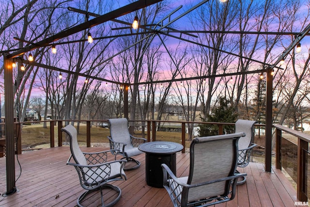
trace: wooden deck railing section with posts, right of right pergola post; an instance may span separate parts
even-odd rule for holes
[[[310,135],[306,133],[302,133],[301,131],[296,131],[288,127],[283,127],[281,125],[274,125],[276,128],[276,168],[282,168],[282,160],[281,160],[281,139],[282,139],[282,131],[293,135],[298,138],[297,143],[297,199],[299,201],[308,201],[307,196],[307,154],[309,154],[309,143],[310,143]],[[294,144],[294,143],[292,143]]]

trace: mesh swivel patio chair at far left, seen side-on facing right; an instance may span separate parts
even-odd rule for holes
[[[119,187],[109,184],[109,182],[127,179],[123,170],[126,160],[115,160],[116,156],[114,156],[112,161],[108,161],[108,152],[111,150],[94,153],[82,152],[78,146],[76,128],[68,125],[63,127],[61,131],[67,133],[70,137],[71,155],[67,164],[75,167],[78,172],[80,185],[83,189],[87,190],[78,197],[78,206],[82,207],[81,202],[86,196],[97,190],[100,191],[102,207],[109,207],[116,204],[121,198],[122,191]],[[72,158],[75,163],[70,162]],[[105,204],[103,189],[116,191],[116,198]]]

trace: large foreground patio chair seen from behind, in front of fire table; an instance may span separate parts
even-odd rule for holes
[[[174,207],[211,206],[235,196],[238,139],[244,133],[200,137],[190,144],[189,175],[177,178],[166,164],[163,185]]]

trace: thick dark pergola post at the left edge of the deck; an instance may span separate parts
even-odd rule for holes
[[[6,193],[16,192],[15,148],[14,148],[14,94],[12,59],[4,57],[4,108],[5,108],[5,151],[6,151]]]

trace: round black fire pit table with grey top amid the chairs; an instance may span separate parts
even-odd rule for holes
[[[183,145],[173,142],[150,142],[140,144],[140,151],[145,152],[145,176],[148,186],[163,187],[163,170],[165,163],[176,175],[176,153],[183,149]]]

